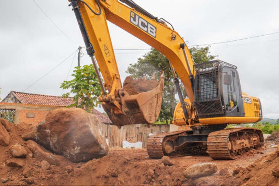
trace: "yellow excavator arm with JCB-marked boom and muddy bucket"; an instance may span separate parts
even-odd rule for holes
[[[128,6],[118,0],[69,1],[81,29],[87,53],[97,75],[98,63],[105,82],[103,84],[98,75],[102,87],[99,100],[115,125],[151,124],[158,119],[162,103],[163,76],[158,86],[152,90],[129,95],[122,87],[107,20],[164,54],[172,69],[176,69],[190,101],[194,100],[191,54],[182,37],[167,26],[164,19],[154,17],[131,0],[121,0]]]

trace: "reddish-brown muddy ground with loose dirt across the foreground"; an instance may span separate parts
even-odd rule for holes
[[[150,159],[145,149],[110,149],[108,155],[88,162],[73,163],[51,153],[56,162],[45,168],[42,156],[32,152],[22,139],[28,131],[24,124],[11,126],[10,144],[0,145],[0,185],[278,185],[279,167],[277,146],[270,141],[263,150],[246,153],[236,160],[212,160],[207,155],[171,158],[172,166]],[[276,138],[277,139],[277,138]],[[30,141],[29,141],[30,142]],[[8,164],[13,159],[9,148],[22,144],[28,152],[22,166]],[[200,162],[214,162],[218,171],[212,176],[188,179],[183,176],[187,167]],[[219,175],[221,169],[227,175]],[[234,176],[232,175],[234,173]],[[238,174],[235,174],[238,173]],[[278,175],[279,176],[279,169]]]

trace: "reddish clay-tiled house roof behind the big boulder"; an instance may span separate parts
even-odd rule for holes
[[[66,107],[74,103],[73,98],[62,98],[60,96],[49,96],[42,94],[30,94],[25,92],[11,91],[10,94],[15,96],[19,103],[31,104],[31,105],[50,105],[50,106],[63,106]],[[5,99],[3,99],[4,101]],[[99,112],[96,109],[92,109],[92,113],[96,115],[101,123],[111,124],[109,117]]]

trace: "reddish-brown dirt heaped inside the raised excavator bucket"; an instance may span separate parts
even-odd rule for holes
[[[129,95],[134,95],[154,89],[158,86],[159,82],[158,80],[133,79],[131,76],[128,76],[124,80],[123,88]]]

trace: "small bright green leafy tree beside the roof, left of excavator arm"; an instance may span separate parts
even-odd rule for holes
[[[84,65],[83,67],[75,67],[74,74],[71,74],[74,79],[70,81],[64,81],[61,83],[60,88],[71,89],[71,93],[74,94],[74,103],[68,107],[83,108],[87,112],[91,112],[91,109],[100,104],[98,96],[102,90],[94,70],[93,65]],[[67,92],[62,97],[67,98],[70,95]]]

